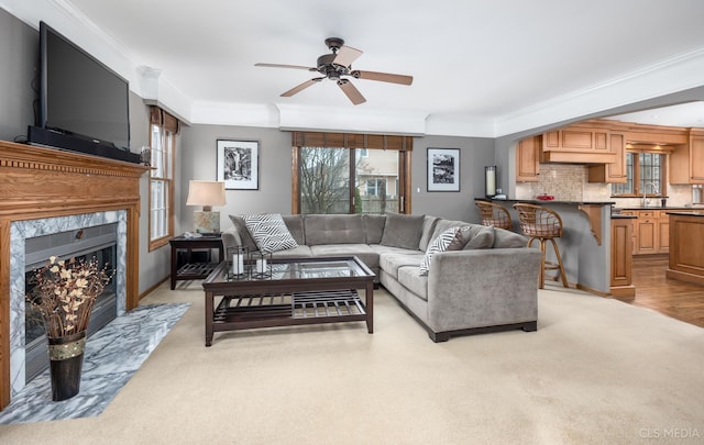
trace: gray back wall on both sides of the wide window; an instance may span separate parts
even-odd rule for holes
[[[220,226],[230,226],[229,214],[253,212],[290,213],[292,136],[277,129],[193,125],[183,130],[179,153],[180,221],[193,230],[193,207],[186,205],[190,179],[216,180],[217,140],[260,142],[260,189],[228,190],[228,204],[216,208]],[[427,148],[460,148],[460,192],[428,192],[426,179]],[[415,214],[433,214],[455,220],[479,221],[474,197],[484,194],[484,166],[493,165],[494,141],[471,137],[417,137],[414,141],[411,170],[411,209]],[[420,192],[417,190],[420,189]]]

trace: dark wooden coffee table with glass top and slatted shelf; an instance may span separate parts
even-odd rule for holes
[[[216,332],[255,327],[365,321],[374,332],[375,275],[359,258],[286,258],[271,266],[267,278],[233,278],[222,262],[204,280],[206,346]]]

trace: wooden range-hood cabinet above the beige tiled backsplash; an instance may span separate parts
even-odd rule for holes
[[[616,154],[609,144],[610,131],[570,125],[542,135],[543,163],[614,164]]]

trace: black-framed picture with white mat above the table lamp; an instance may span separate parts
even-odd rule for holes
[[[258,190],[260,143],[218,140],[218,180],[226,190]]]

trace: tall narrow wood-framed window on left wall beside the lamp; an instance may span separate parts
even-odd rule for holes
[[[150,251],[174,235],[174,154],[178,120],[158,107],[150,108]]]

